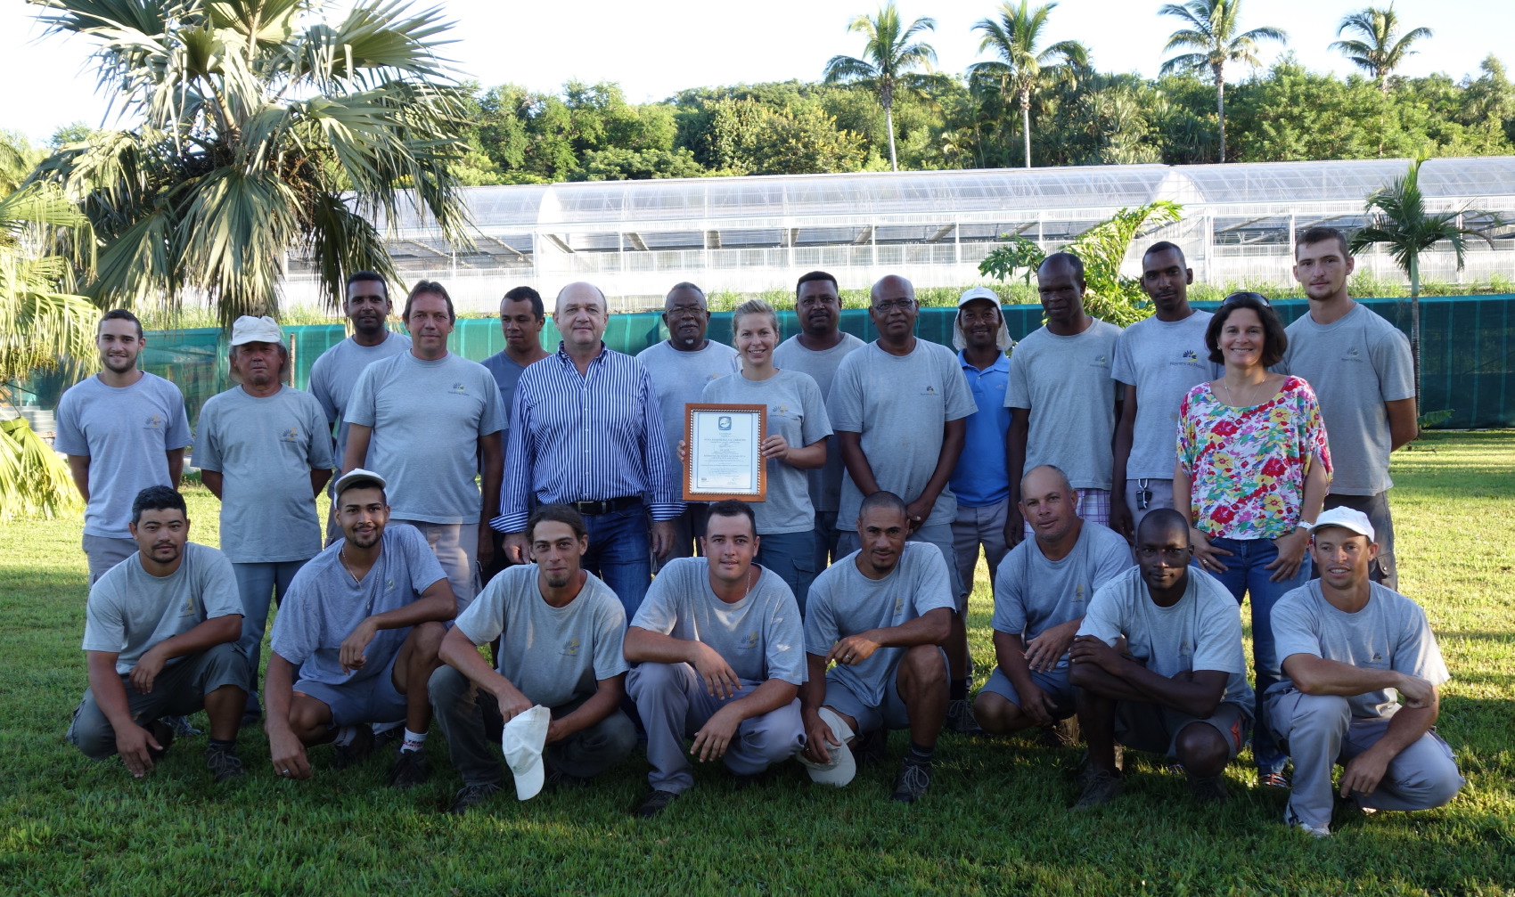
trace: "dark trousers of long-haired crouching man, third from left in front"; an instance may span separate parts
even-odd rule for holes
[[[504,720],[494,695],[447,665],[432,673],[427,691],[436,723],[447,738],[447,755],[464,785],[498,785],[503,779],[500,729]],[[565,717],[582,703],[551,708],[553,717]],[[592,779],[621,762],[635,747],[636,726],[626,714],[614,711],[594,726],[548,744],[542,761],[548,771]]]

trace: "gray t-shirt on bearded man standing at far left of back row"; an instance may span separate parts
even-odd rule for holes
[[[189,444],[185,397],[168,380],[142,371],[130,386],[80,380],[58,400],[53,448],[89,458],[85,535],[129,539],[132,502],[168,482],[168,452]]]

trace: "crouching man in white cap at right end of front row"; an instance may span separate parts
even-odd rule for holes
[[[1336,764],[1344,767],[1341,799],[1368,814],[1442,806],[1462,776],[1433,729],[1436,688],[1451,674],[1426,612],[1368,579],[1379,553],[1368,515],[1332,508],[1310,535],[1321,577],[1273,608],[1283,676],[1264,700],[1294,756],[1283,818],[1324,838]]]

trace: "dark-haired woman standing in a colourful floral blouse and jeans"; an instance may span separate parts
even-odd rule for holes
[[[1264,718],[1262,694],[1276,682],[1267,670],[1279,667],[1273,605],[1310,577],[1304,549],[1330,485],[1326,424],[1309,383],[1268,371],[1288,338],[1267,298],[1227,295],[1204,342],[1226,373],[1183,398],[1173,503],[1189,518],[1195,564],[1238,603],[1251,595],[1253,756],[1260,783],[1286,788],[1288,758]]]

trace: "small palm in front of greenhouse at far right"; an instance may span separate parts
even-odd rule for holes
[[[1488,227],[1500,227],[1503,220],[1470,208],[1429,212],[1420,188],[1420,167],[1424,155],[1410,162],[1409,171],[1368,194],[1368,224],[1351,235],[1348,250],[1362,252],[1374,244],[1389,247],[1389,255],[1410,279],[1410,356],[1415,361],[1415,403],[1420,408],[1420,256],[1438,242],[1447,242],[1457,253],[1457,270],[1468,253],[1468,238],[1489,245],[1494,241],[1482,229],[1467,227],[1470,217],[1483,218]]]

